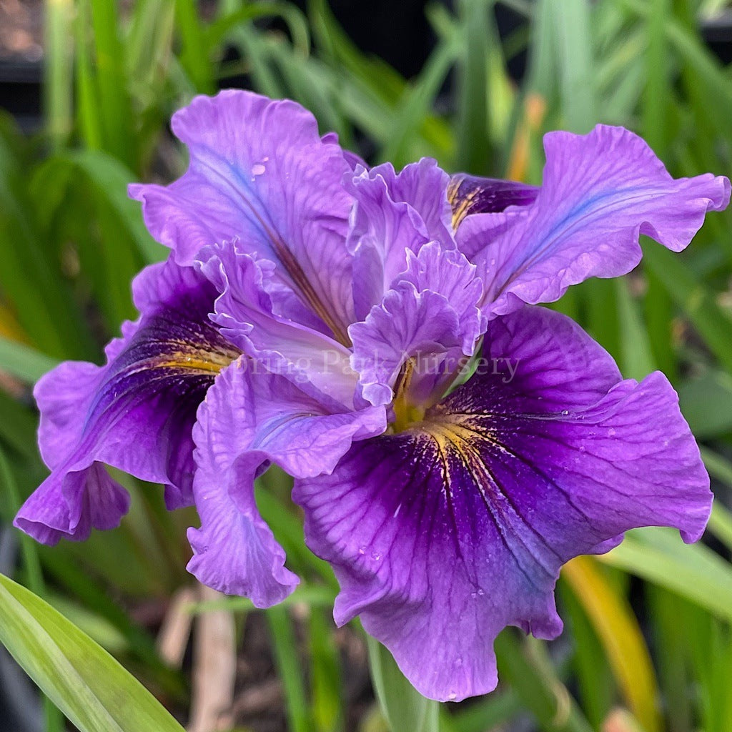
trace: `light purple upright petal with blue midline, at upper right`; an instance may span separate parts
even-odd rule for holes
[[[485,280],[485,308],[553,302],[588,277],[624,275],[641,260],[639,234],[679,251],[708,211],[724,209],[730,183],[707,173],[673,179],[649,146],[622,127],[545,135],[536,201],[504,214],[467,216],[458,244]]]

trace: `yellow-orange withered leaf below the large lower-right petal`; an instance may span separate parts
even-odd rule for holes
[[[646,732],[659,732],[659,692],[651,657],[630,604],[602,575],[597,559],[578,556],[561,570],[597,632],[624,698]]]

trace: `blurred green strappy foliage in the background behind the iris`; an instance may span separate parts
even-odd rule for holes
[[[58,359],[98,362],[135,315],[133,275],[165,256],[126,185],[183,171],[168,120],[194,94],[244,76],[257,91],[301,102],[323,132],[335,130],[372,163],[430,155],[448,171],[540,183],[543,132],[605,122],[641,133],[675,176],[732,174],[732,68],[698,32],[725,2],[504,0],[528,26],[503,42],[493,4],[428,7],[436,43],[411,79],[359,51],[326,0],[310,0],[307,14],[278,0],[220,0],[205,19],[194,0],[138,1],[125,12],[110,0],[45,4],[44,130],[23,138],[0,118],[4,522],[44,475],[32,382]],[[517,86],[507,60],[527,46],[529,69]],[[679,389],[717,492],[712,548],[635,531],[608,556],[570,564],[559,588],[563,639],[550,646],[501,635],[501,690],[440,709],[444,732],[482,732],[527,714],[547,732],[732,729],[732,518],[724,508],[732,491],[731,224],[732,212],[713,214],[681,255],[645,242],[632,275],[584,283],[556,305],[625,376],[660,368]],[[190,583],[184,529],[195,516],[170,515],[160,491],[122,480],[132,512],[118,531],[53,549],[24,542],[17,576],[181,710],[187,679],[160,660],[129,608],[167,602]],[[304,548],[286,480],[267,474],[258,500],[305,578],[293,602],[268,613],[290,729],[343,729],[343,669],[329,619],[335,579]],[[307,608],[304,646],[293,640],[294,604]],[[246,600],[214,607],[254,612]],[[61,729],[52,708],[47,720],[49,731]],[[367,725],[384,728],[383,720]]]

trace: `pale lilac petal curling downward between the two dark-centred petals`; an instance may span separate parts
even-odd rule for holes
[[[383,407],[349,412],[315,400],[282,376],[258,373],[242,356],[209,389],[193,431],[201,528],[188,532],[190,572],[259,608],[283,600],[298,580],[259,515],[255,477],[270,463],[298,477],[330,471],[351,441],[385,428]]]

